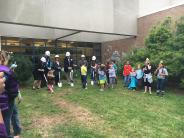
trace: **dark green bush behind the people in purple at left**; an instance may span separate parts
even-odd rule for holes
[[[13,55],[10,64],[16,62],[17,68],[15,74],[21,85],[26,85],[32,77],[32,62],[29,57],[25,55]]]

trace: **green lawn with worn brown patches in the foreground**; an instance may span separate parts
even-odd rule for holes
[[[23,138],[183,138],[184,97],[163,98],[129,91],[121,84],[100,92],[97,87],[64,86],[22,89],[19,105]]]

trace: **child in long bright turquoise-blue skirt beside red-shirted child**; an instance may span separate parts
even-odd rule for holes
[[[135,72],[135,70],[134,70],[134,68],[132,68],[132,71],[130,72],[130,84],[129,84],[129,86],[128,86],[128,89],[131,89],[131,90],[136,90],[136,87],[137,87],[137,85],[136,85],[136,82],[137,80],[136,80],[136,72]]]

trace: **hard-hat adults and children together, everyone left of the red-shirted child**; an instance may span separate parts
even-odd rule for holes
[[[117,82],[117,65],[114,61],[108,62],[107,65],[97,64],[96,57],[92,56],[91,62],[81,55],[81,60],[78,65],[75,65],[71,58],[70,52],[66,52],[61,65],[59,55],[54,56],[54,61],[51,61],[50,51],[46,51],[45,55],[36,62],[33,69],[34,83],[33,90],[39,89],[42,86],[47,86],[50,93],[54,92],[54,85],[62,87],[61,73],[64,72],[68,84],[74,86],[74,67],[80,69],[82,87],[87,89],[87,76],[90,74],[91,85],[100,85],[100,90],[103,91],[105,86],[114,87]]]

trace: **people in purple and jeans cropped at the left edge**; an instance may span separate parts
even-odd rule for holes
[[[17,65],[13,63],[9,66],[9,60],[10,54],[0,51],[0,138],[19,138],[21,127],[15,99],[18,97],[20,102],[22,96],[14,73]],[[11,125],[13,136],[10,132]]]

